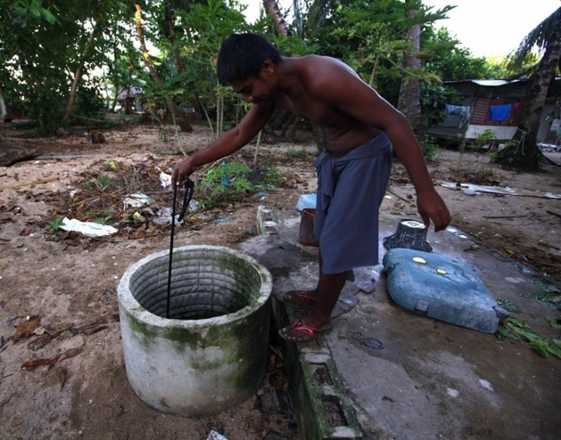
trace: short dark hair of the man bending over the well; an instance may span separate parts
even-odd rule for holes
[[[222,86],[248,77],[259,77],[261,65],[268,58],[274,63],[281,55],[268,40],[252,33],[232,34],[220,46],[217,73]]]

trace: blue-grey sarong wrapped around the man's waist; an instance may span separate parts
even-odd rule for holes
[[[314,235],[324,273],[378,264],[378,210],[392,172],[385,133],[341,158],[324,151],[316,160],[318,198]]]

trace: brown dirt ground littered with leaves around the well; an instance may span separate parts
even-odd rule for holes
[[[163,136],[158,126],[127,124],[103,130],[100,144],[89,143],[88,133],[72,129],[31,138],[0,126],[0,153],[15,149],[22,158],[0,167],[0,438],[206,439],[211,433],[229,440],[295,438],[274,339],[260,390],[230,411],[190,420],[153,411],[134,395],[125,373],[116,287],[129,265],[169,249],[169,225],[153,219],[172,200],[160,185],[161,171],[181,155],[170,127]],[[186,151],[210,141],[204,126],[181,136]],[[175,246],[235,248],[256,233],[259,205],[293,210],[301,194],[315,191],[315,152],[311,143],[279,142],[262,143],[257,154],[255,145],[239,151],[238,161],[251,164],[257,158],[262,169],[276,167],[283,185],[189,213],[186,224],[176,228]],[[520,173],[492,165],[485,154],[454,150],[441,150],[429,167],[436,183],[515,189],[509,196],[468,195],[441,185],[438,191],[453,227],[513,264],[561,281],[561,200],[546,197],[561,194],[561,167],[548,163],[543,172]],[[102,174],[120,183],[104,188]],[[153,205],[125,209],[124,199],[138,191]],[[399,162],[382,209],[418,218],[414,189]],[[56,219],[64,216],[101,218],[119,232],[101,238],[55,232]]]

